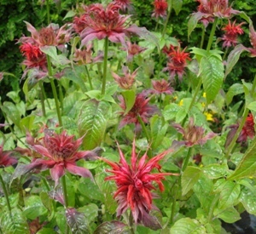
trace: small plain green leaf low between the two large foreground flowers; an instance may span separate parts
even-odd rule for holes
[[[89,197],[93,200],[104,202],[102,191],[100,191],[99,187],[90,179],[80,178],[78,188],[83,196]]]

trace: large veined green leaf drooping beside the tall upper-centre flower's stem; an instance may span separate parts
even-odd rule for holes
[[[107,120],[111,113],[108,102],[88,100],[81,106],[79,114],[79,135],[84,136],[83,146],[92,150],[100,146],[107,127]]]

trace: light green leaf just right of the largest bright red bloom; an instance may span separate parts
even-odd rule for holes
[[[187,167],[182,174],[182,195],[186,195],[187,192],[193,188],[195,183],[201,177],[201,168]]]

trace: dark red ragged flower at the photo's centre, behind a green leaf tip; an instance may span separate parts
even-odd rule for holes
[[[127,114],[125,114],[126,105],[123,96],[119,96],[119,100],[119,106],[124,110],[124,112],[121,113],[122,120],[119,124],[119,128],[124,127],[128,123],[135,123],[136,132],[138,132],[141,128],[138,117],[141,117],[143,123],[148,123],[149,117],[152,117],[157,111],[156,106],[148,104],[150,99],[147,98],[145,93],[137,94],[134,105]]]

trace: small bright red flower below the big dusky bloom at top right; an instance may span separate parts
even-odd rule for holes
[[[238,35],[241,35],[243,33],[243,30],[241,29],[241,25],[243,24],[244,22],[236,25],[236,20],[233,22],[233,24],[231,24],[229,20],[229,24],[224,26],[223,28],[223,31],[225,31],[224,37],[221,37],[221,39],[224,41],[223,47],[236,46],[236,44],[238,43]]]

